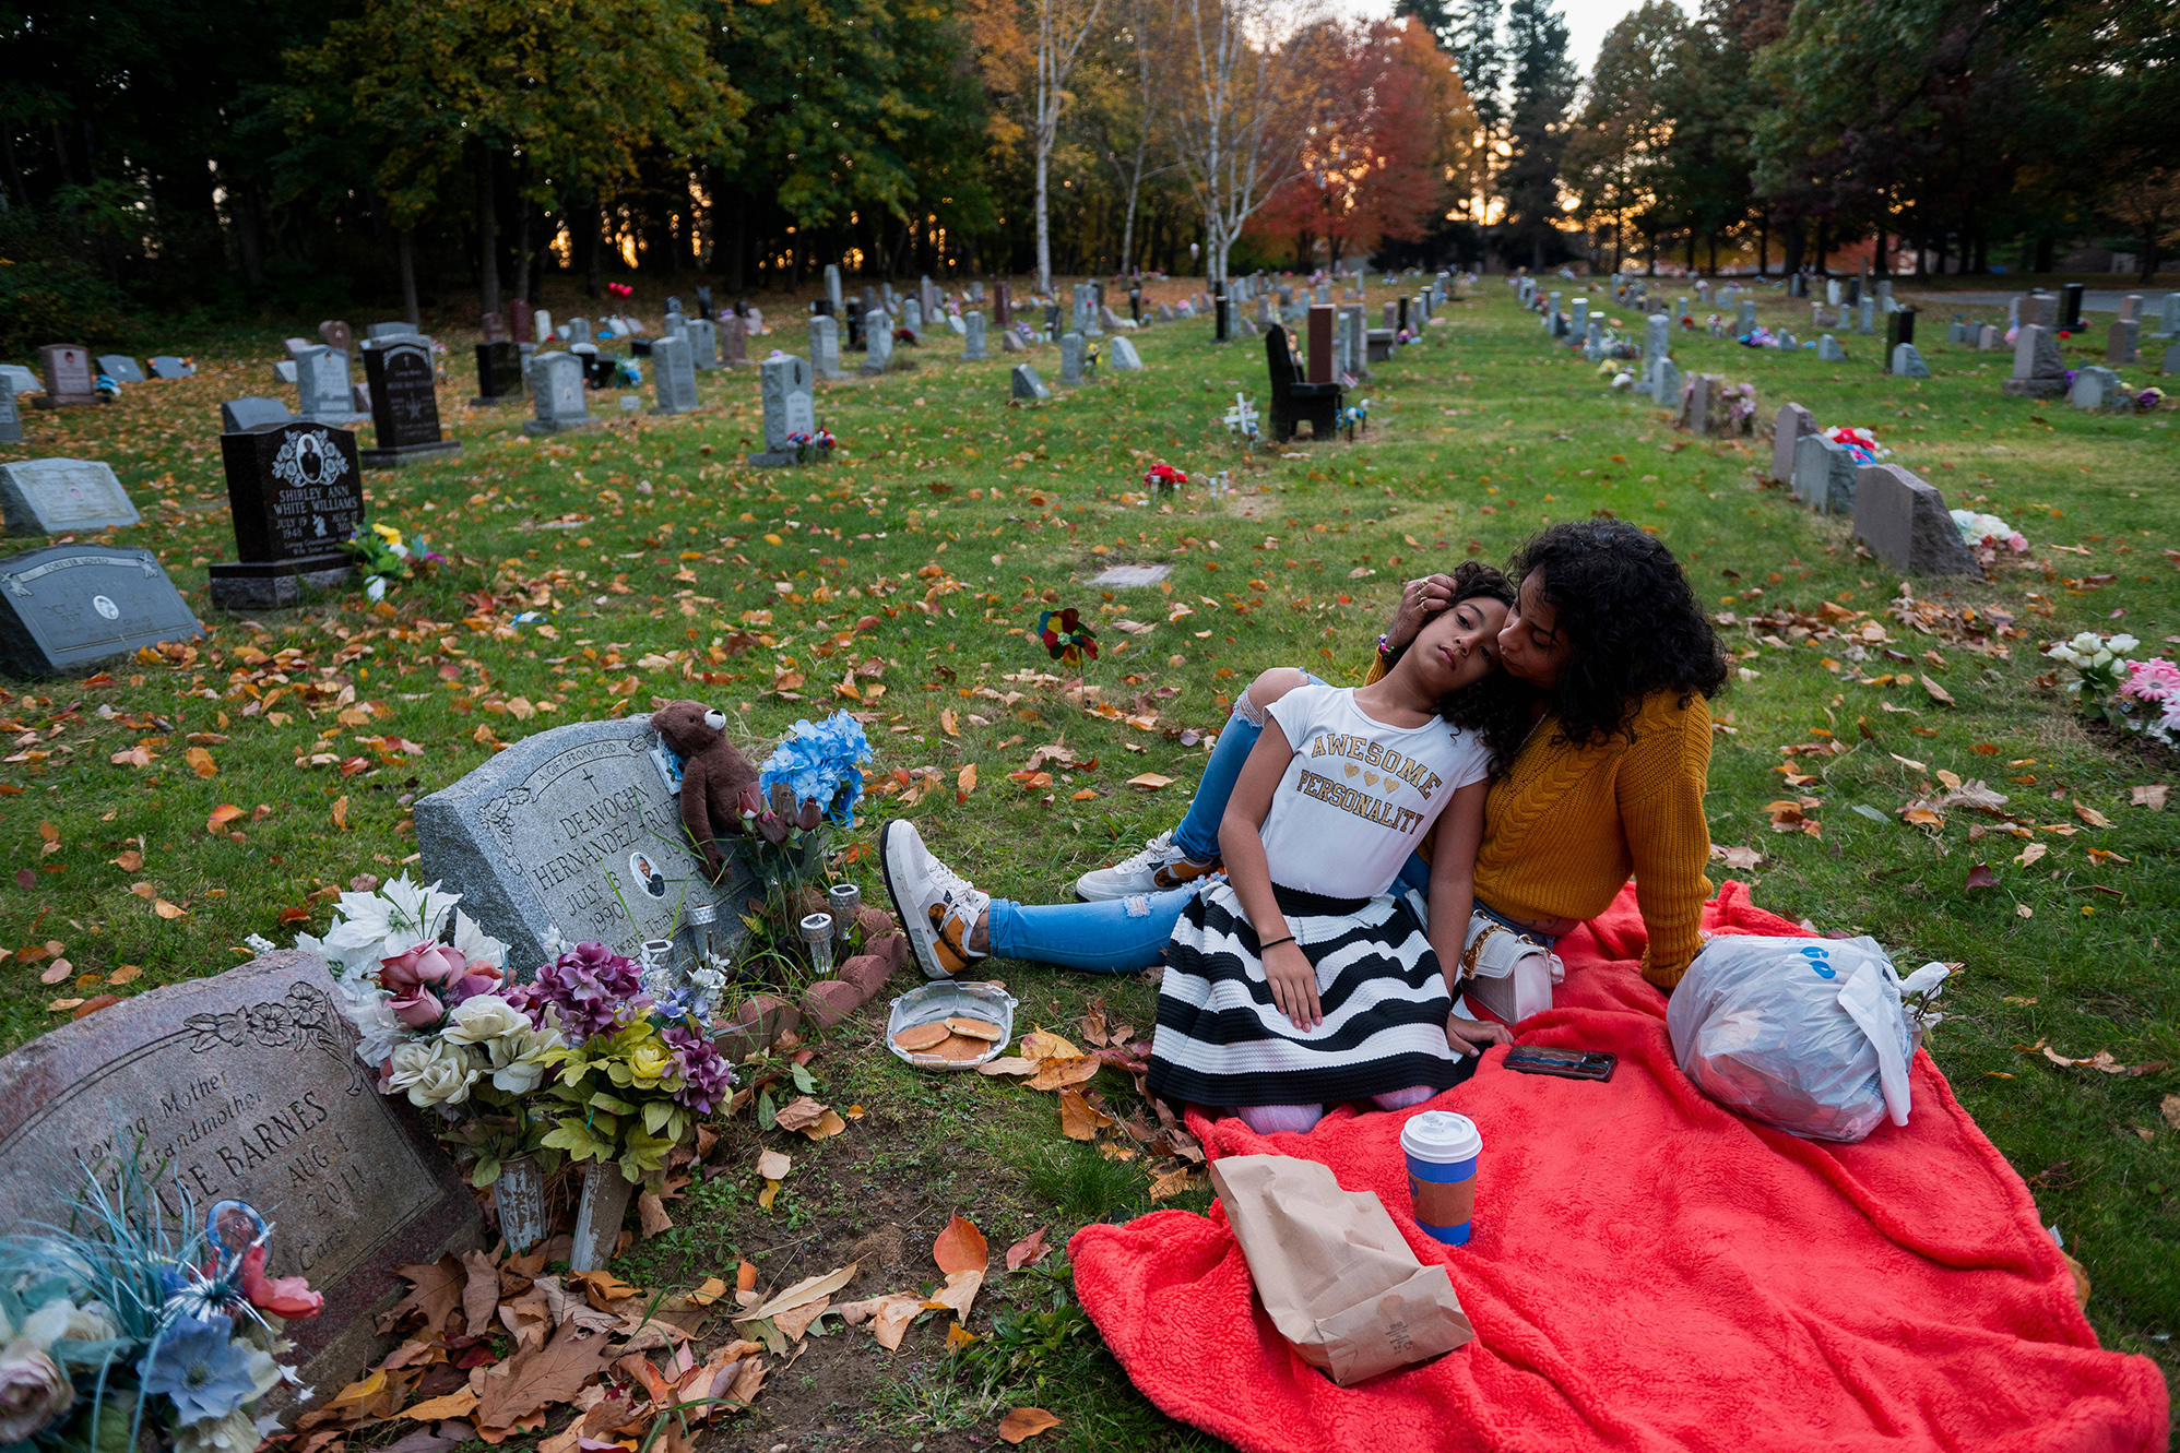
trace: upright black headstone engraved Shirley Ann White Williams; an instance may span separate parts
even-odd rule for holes
[[[294,420],[220,436],[235,560],[211,564],[220,610],[277,610],[355,573],[340,545],[364,523],[355,436]]]

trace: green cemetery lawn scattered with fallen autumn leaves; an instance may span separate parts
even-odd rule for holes
[[[1589,298],[1639,338],[1633,309],[1611,307],[1602,288]],[[658,301],[639,312],[656,316]],[[1759,312],[1814,338],[1803,303],[1770,294]],[[2047,638],[2123,627],[2165,649],[2180,634],[2171,410],[2119,418],[2003,399],[2010,355],[1945,344],[1938,309],[1918,338],[1936,375],[1925,381],[1879,373],[1881,338],[1840,333],[1846,364],[1676,338],[1683,373],[1755,381],[1764,418],[1799,401],[1825,427],[1868,427],[1949,503],[2030,536],[2034,549],[1988,582],[1914,582],[1945,610],[2014,619],[2021,634],[1999,640],[2003,654],[1982,654],[1890,616],[1901,577],[1860,555],[1844,521],[1764,484],[1768,440],[1676,434],[1648,401],[1548,349],[1500,279],[1373,370],[1360,390],[1371,427],[1356,444],[1251,462],[1219,416],[1236,392],[1267,403],[1262,349],[1216,346],[1208,322],[1153,327],[1138,338],[1149,373],[1027,410],[1007,403],[1012,359],[994,349],[964,364],[955,340],[933,335],[903,351],[911,370],[822,386],[820,418],[844,449],[796,471],[739,462],[761,447],[754,370],[702,375],[706,410],[689,418],[621,423],[602,394],[593,412],[608,427],[528,440],[519,410],[460,405],[471,338],[445,338],[453,381],[440,399],[462,453],[373,475],[368,488],[373,518],[427,536],[451,564],[379,608],[351,593],[238,621],[205,601],[205,564],[233,553],[216,407],[275,392],[272,335],[233,357],[201,355],[196,379],[131,388],[113,407],[28,414],[31,442],[0,449],[111,462],[146,516],[113,538],[157,549],[211,627],[187,651],[116,662],[109,677],[0,691],[11,743],[0,926],[17,950],[0,980],[0,1046],[65,1019],[55,1002],[218,972],[249,956],[253,932],[286,943],[296,928],[323,930],[329,895],[353,878],[414,871],[410,804],[506,741],[698,695],[728,706],[761,754],[796,717],[844,704],[833,686],[872,656],[883,675],[859,680],[874,767],[924,771],[913,804],[872,799],[857,837],[911,815],[981,887],[1057,900],[1075,874],[1175,821],[1206,752],[1182,730],[1216,730],[1256,671],[1306,664],[1358,680],[1408,575],[1472,553],[1502,560],[1543,523],[1611,512],[1657,529],[1733,621],[1722,634],[1740,673],[1716,704],[1711,837],[1761,858],[1713,876],[1746,878],[1761,906],[1818,930],[1875,935],[1901,969],[1964,965],[1929,1041],[1938,1065],[2088,1268],[2106,1346],[2149,1353],[2167,1375],[2180,1366],[2165,1340],[2180,1324],[2180,1109],[2160,1113],[2180,1094],[2165,948],[2180,939],[2180,810],[2130,797],[2176,769],[2091,736],[2038,682]],[[2102,362],[2102,344],[2080,342],[2069,362]],[[770,346],[802,351],[800,320],[754,340],[752,355]],[[1057,349],[1031,362],[1057,375]],[[1234,471],[1238,492],[1153,499],[1142,471],[1158,460]],[[1086,584],[1114,562],[1168,562],[1168,588]],[[1860,612],[1842,632],[1875,623],[1884,640],[1853,660],[1846,640],[1788,625],[1827,601]],[[1051,662],[1025,632],[1044,603],[1099,623],[1105,654],[1088,684],[1155,712],[1151,728],[1090,715],[1036,680]],[[517,625],[525,610],[545,619]],[[876,627],[859,630],[863,616]],[[1073,747],[1075,767],[1049,786],[1009,780],[1051,743]],[[961,802],[966,765],[979,771]],[[1127,786],[1147,771],[1175,782]],[[2047,852],[2027,854],[1969,813],[1905,826],[1897,810],[1942,791],[1940,771],[2008,793]],[[1820,834],[1770,830],[1766,804],[1785,797],[1812,799]],[[222,804],[242,815],[209,832]],[[2078,806],[2112,826],[2088,826]],[[1997,887],[1969,893],[1977,863]],[[850,871],[883,900],[870,869],[865,856]],[[1155,991],[1140,980],[992,972],[1022,1000],[1025,1026],[1073,1033],[1094,993],[1118,1017],[1151,1017]],[[730,1170],[691,1187],[674,1205],[680,1224],[641,1242],[623,1274],[689,1285],[750,1257],[765,1285],[785,1285],[852,1253],[868,1296],[935,1281],[929,1244],[957,1209],[994,1253],[1040,1224],[1057,1244],[1083,1222],[1149,1209],[1142,1165],[1062,1139],[1051,1096],[918,1076],[883,1052],[879,1030],[855,1017],[813,1063],[822,1098],[865,1111],[846,1135],[811,1146],[761,1137],[748,1118],[722,1126],[713,1163]],[[2141,1072],[2062,1067],[2043,1048],[2110,1052]],[[1114,1100],[1129,1098],[1125,1080],[1105,1078]],[[770,1211],[746,1170],[759,1139],[796,1155]],[[1164,1205],[1206,1200],[1199,1187]],[[1005,1327],[992,1311],[1007,1311]],[[735,1436],[953,1449],[968,1446],[966,1431],[988,1433],[996,1412],[1036,1403],[1066,1418],[1040,1438],[1049,1446],[1208,1446],[1129,1390],[1062,1277],[994,1274],[972,1327],[1007,1355],[948,1362],[940,1318],[898,1355],[861,1331],[822,1338],[774,1375]]]

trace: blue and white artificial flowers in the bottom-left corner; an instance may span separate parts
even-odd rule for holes
[[[0,1240],[0,1446],[257,1446],[262,1399],[301,1385],[281,1333],[325,1298],[266,1277],[255,1209],[220,1200],[194,1231],[183,1198],[177,1237],[122,1157],[113,1185],[85,1168],[78,1229]]]

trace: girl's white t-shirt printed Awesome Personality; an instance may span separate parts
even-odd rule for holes
[[[1454,793],[1491,760],[1448,721],[1386,725],[1341,686],[1299,686],[1271,704],[1295,749],[1264,815],[1264,858],[1280,887],[1325,898],[1384,893]]]

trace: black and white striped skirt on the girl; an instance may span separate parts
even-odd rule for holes
[[[1166,945],[1151,1089],[1197,1104],[1325,1104],[1410,1085],[1450,1089],[1476,1059],[1445,1043],[1452,1000],[1406,900],[1273,889],[1317,967],[1323,1024],[1280,1013],[1258,932],[1227,882],[1197,893]]]

